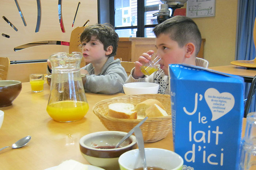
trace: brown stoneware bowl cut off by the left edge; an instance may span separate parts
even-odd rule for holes
[[[20,94],[22,84],[17,80],[0,80],[0,107],[12,105]]]

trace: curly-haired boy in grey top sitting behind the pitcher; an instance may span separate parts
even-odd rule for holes
[[[119,37],[110,24],[89,25],[80,36],[82,55],[87,64],[80,69],[86,75],[84,90],[94,93],[123,92],[127,73],[120,60],[114,60]],[[48,74],[50,72],[48,60]]]

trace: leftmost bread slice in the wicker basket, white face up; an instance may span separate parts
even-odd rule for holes
[[[108,116],[119,119],[137,119],[137,112],[134,108],[134,105],[130,103],[111,103]]]

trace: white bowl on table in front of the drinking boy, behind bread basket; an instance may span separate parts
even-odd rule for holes
[[[134,82],[123,85],[126,95],[134,94],[157,94],[159,84],[149,82]]]

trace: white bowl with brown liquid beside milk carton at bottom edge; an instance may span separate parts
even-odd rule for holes
[[[159,148],[145,148],[146,163],[148,166],[161,167],[168,170],[181,170],[183,159],[173,151]],[[122,154],[118,163],[121,170],[133,170],[143,167],[139,156],[139,149],[130,150]]]

